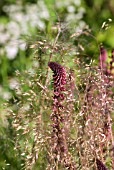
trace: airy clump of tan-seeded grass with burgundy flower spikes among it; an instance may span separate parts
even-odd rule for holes
[[[86,64],[59,36],[33,45],[32,71],[17,72],[14,149],[22,169],[112,170],[113,51],[107,63],[100,47],[99,63]]]

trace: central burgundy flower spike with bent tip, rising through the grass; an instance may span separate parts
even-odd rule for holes
[[[63,66],[57,62],[48,62],[48,66],[53,71],[53,112],[51,114],[52,120],[52,137],[51,137],[51,149],[52,157],[51,164],[55,169],[57,166],[64,166],[67,169],[76,169],[71,157],[68,153],[66,132],[65,132],[65,115],[62,101],[64,100],[65,91],[64,85],[66,84],[66,71]]]

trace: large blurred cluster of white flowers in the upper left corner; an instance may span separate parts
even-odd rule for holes
[[[37,4],[4,6],[3,10],[9,15],[7,24],[0,24],[0,43],[8,59],[13,60],[18,50],[25,50],[26,43],[20,42],[21,35],[30,35],[30,30],[45,29],[43,19],[49,18],[49,12],[44,1],[39,0]]]

